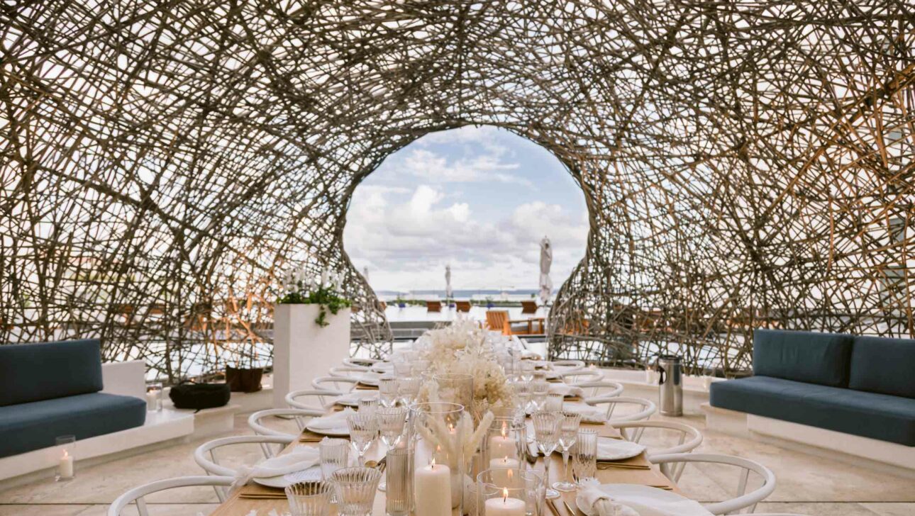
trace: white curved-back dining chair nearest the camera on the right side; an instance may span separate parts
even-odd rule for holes
[[[676,467],[682,463],[721,464],[739,468],[737,478],[737,496],[730,500],[705,504],[705,510],[712,514],[749,514],[756,509],[756,504],[765,500],[775,490],[775,474],[759,462],[743,457],[705,453],[676,453],[651,457],[651,462],[661,466],[661,472],[675,481]],[[682,473],[681,469],[681,473]],[[749,474],[755,473],[762,480],[759,488],[747,492]],[[744,511],[747,510],[747,511]]]

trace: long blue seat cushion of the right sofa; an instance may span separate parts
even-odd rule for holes
[[[714,382],[712,406],[915,446],[915,400],[767,376]]]

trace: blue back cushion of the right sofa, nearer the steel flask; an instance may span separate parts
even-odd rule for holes
[[[755,329],[753,374],[847,387],[852,341],[834,333]]]

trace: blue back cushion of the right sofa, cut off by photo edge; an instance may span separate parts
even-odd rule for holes
[[[915,340],[856,337],[848,388],[915,398]]]

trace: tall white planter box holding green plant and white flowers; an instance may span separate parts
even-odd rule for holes
[[[274,306],[274,407],[288,392],[311,389],[311,381],[350,356],[350,308],[327,310],[328,326],[315,324],[318,305]]]

